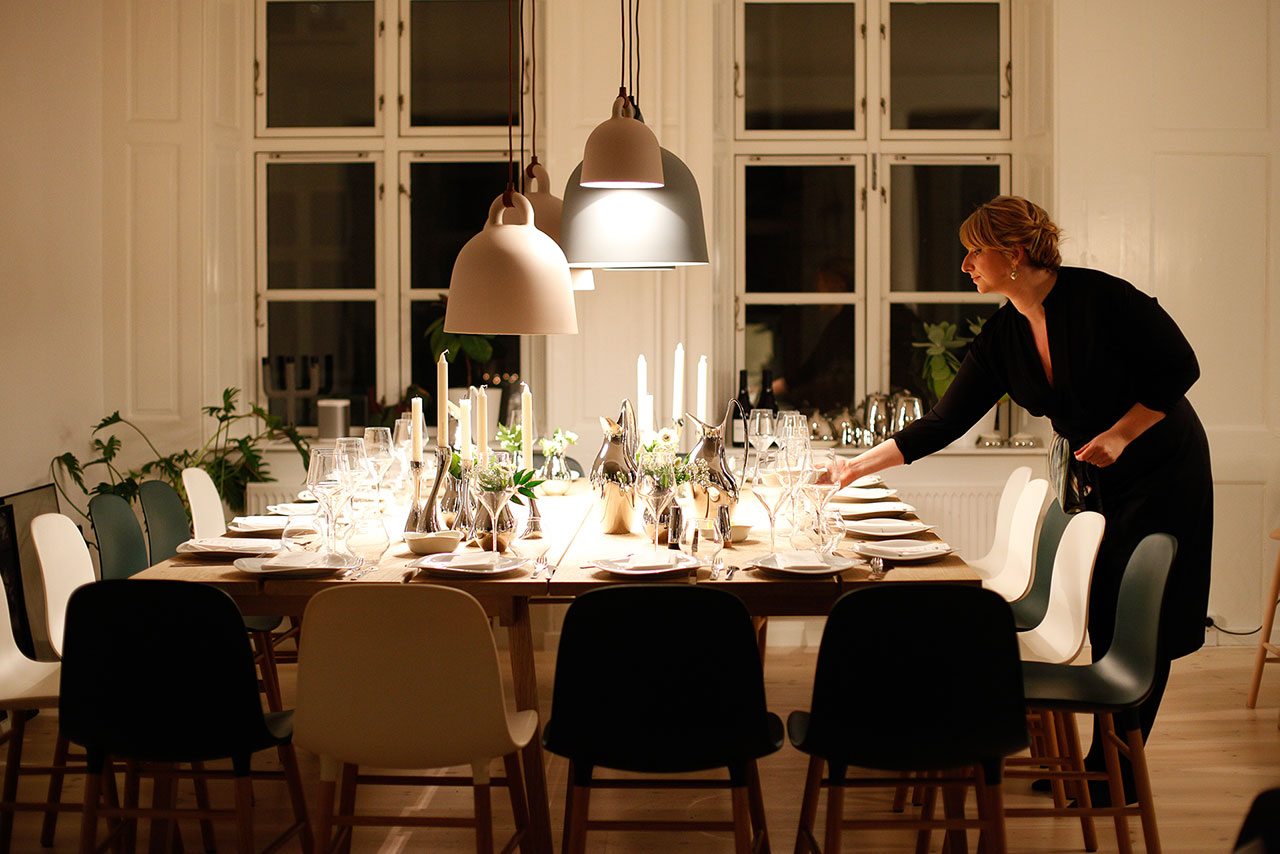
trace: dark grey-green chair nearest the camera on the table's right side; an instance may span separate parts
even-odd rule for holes
[[[1178,551],[1178,540],[1169,534],[1149,534],[1134,548],[1124,577],[1120,580],[1120,598],[1116,603],[1116,626],[1111,647],[1092,665],[1048,665],[1025,662],[1023,681],[1027,705],[1032,711],[1050,711],[1065,721],[1065,755],[1048,771],[1043,768],[1010,768],[1009,776],[1057,777],[1076,782],[1079,798],[1075,805],[1043,809],[1007,809],[1009,817],[1108,816],[1115,819],[1120,850],[1128,850],[1128,817],[1142,819],[1143,840],[1152,854],[1160,851],[1160,834],[1156,827],[1156,805],[1147,771],[1138,705],[1151,694],[1156,679],[1160,644],[1160,603],[1165,597],[1169,567]],[[1102,730],[1106,772],[1084,769],[1075,713],[1097,714]],[[1119,735],[1123,732],[1124,735]],[[1125,803],[1120,757],[1133,766],[1138,802]],[[1046,764],[1046,758],[1018,761],[1018,764]],[[1089,798],[1089,780],[1106,780],[1111,807],[1093,807]]]

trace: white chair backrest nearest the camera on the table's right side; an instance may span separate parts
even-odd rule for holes
[[[1089,624],[1089,584],[1106,520],[1087,510],[1066,522],[1053,556],[1053,580],[1044,618],[1018,635],[1023,658],[1066,663],[1084,648]]]

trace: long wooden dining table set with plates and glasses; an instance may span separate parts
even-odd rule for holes
[[[749,499],[746,495],[742,498]],[[312,595],[340,584],[444,584],[466,590],[480,602],[490,617],[497,618],[498,624],[507,629],[517,709],[534,709],[539,714],[541,711],[534,667],[531,606],[563,604],[588,590],[613,584],[650,580],[672,584],[713,584],[739,595],[756,618],[758,627],[763,627],[767,617],[826,616],[844,593],[869,584],[909,581],[980,584],[978,574],[954,552],[928,562],[890,566],[881,576],[873,576],[870,567],[861,560],[852,561],[852,565],[842,571],[818,576],[767,571],[756,567],[756,561],[771,553],[767,525],[755,525],[745,540],[724,545],[719,552],[724,568],[714,580],[710,566],[712,548],[700,549],[698,557],[704,560],[692,570],[654,572],[652,576],[618,575],[600,568],[596,562],[654,549],[652,535],[645,533],[639,521],[639,507],[635,530],[626,534],[602,531],[595,511],[595,495],[585,480],[575,481],[563,495],[539,498],[538,507],[541,535],[536,539],[515,539],[509,543],[508,553],[529,558],[527,562],[500,577],[467,577],[463,572],[438,576],[430,571],[417,570],[411,563],[419,556],[411,553],[403,540],[394,542],[370,571],[355,579],[338,574],[329,577],[247,574],[237,570],[230,557],[212,554],[179,554],[133,577],[179,579],[210,584],[227,592],[246,616],[301,616]],[[390,520],[398,521],[394,516]],[[859,556],[851,551],[858,539],[846,536],[836,553],[858,558]],[[924,531],[918,539],[937,542],[938,538],[932,531]],[[783,535],[777,540],[780,548],[786,545]],[[468,549],[479,551],[475,545],[466,545],[458,551]],[[535,577],[534,572],[539,568],[535,560],[538,557],[545,557],[547,566]],[[737,570],[730,572],[730,567]],[[529,745],[524,748],[522,759],[530,809],[527,836],[530,848],[538,854],[550,854],[550,807],[540,726]]]

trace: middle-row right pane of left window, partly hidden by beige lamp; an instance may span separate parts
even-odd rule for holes
[[[506,163],[415,163],[411,282],[415,288],[447,288],[458,251],[484,228],[489,205],[507,188]]]

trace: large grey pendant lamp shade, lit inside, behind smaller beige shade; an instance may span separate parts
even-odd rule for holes
[[[579,164],[564,186],[561,246],[572,268],[663,269],[707,264],[703,200],[694,173],[666,149],[667,183],[655,189],[580,186]]]

